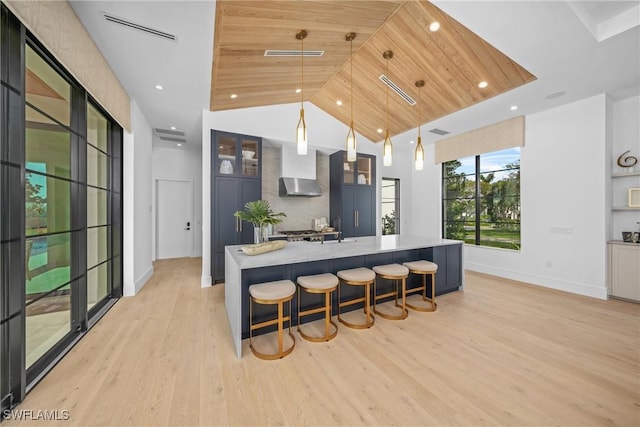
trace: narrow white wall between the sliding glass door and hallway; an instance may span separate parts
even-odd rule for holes
[[[138,105],[131,101],[131,133],[123,147],[123,293],[135,295],[153,275],[152,264],[152,130]]]

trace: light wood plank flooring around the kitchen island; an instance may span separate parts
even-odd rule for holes
[[[295,333],[263,361],[246,342],[235,357],[199,259],[157,262],[17,409],[68,410],[64,426],[640,425],[640,305],[466,280],[434,313]]]

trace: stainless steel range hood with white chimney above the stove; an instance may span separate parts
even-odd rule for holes
[[[280,154],[280,197],[319,197],[320,184],[316,180],[316,150],[308,149],[304,156],[295,147],[283,146]]]

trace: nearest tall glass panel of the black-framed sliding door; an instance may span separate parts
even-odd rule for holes
[[[72,330],[71,85],[26,47],[25,302],[29,368]],[[77,177],[77,171],[73,173]]]

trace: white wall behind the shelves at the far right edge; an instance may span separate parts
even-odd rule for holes
[[[624,169],[617,165],[618,157],[627,150],[626,155],[633,155],[640,159],[640,96],[634,96],[613,104],[613,148],[610,153],[612,173],[622,173]],[[635,172],[640,172],[640,163],[634,166]],[[615,178],[612,185],[612,205],[627,206],[628,189],[640,188],[640,177]],[[623,231],[640,231],[637,222],[640,221],[640,211],[616,211],[612,215],[611,236],[613,240],[622,240]]]

